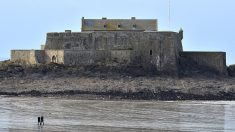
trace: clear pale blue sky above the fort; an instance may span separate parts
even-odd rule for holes
[[[80,31],[81,18],[158,19],[159,30],[184,30],[189,51],[225,51],[235,63],[235,0],[0,0],[0,57],[39,49],[47,32]]]

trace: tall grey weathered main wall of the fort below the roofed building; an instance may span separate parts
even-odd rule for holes
[[[175,32],[64,32],[48,33],[45,49],[66,50],[70,65],[117,61],[177,73],[182,44]]]

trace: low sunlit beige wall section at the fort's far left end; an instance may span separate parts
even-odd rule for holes
[[[12,50],[11,61],[36,64],[37,61],[35,59],[35,50]]]

